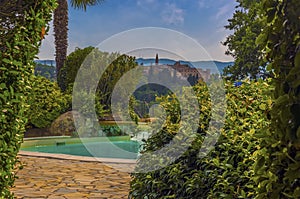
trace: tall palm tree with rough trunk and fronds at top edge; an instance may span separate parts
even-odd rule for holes
[[[103,0],[71,0],[71,6],[86,11],[87,6],[96,5]],[[68,48],[68,0],[57,0],[58,7],[54,11],[54,38],[56,74],[63,67]]]

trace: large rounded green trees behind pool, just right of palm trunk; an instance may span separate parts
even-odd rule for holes
[[[94,47],[78,48],[67,57],[57,81],[63,91],[78,99],[75,104],[80,113],[85,116],[93,114],[91,107],[95,105],[97,116],[101,118],[110,111],[111,96],[116,83],[136,66],[134,57],[101,52]],[[77,77],[79,70],[80,77]],[[75,79],[77,89],[73,92]],[[93,85],[98,85],[96,92],[87,91]]]

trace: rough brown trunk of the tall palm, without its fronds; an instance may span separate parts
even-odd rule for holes
[[[54,38],[56,75],[63,67],[68,48],[68,1],[57,0],[58,7],[54,11]]]

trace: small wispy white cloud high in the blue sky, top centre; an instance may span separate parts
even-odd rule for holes
[[[181,25],[184,23],[184,10],[178,8],[175,4],[167,3],[165,10],[161,13],[162,20],[168,25]]]

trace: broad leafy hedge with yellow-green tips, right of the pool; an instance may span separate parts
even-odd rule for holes
[[[205,85],[195,86],[200,102],[198,135],[189,150],[173,164],[147,173],[133,173],[131,198],[252,198],[254,155],[259,149],[256,134],[269,125],[272,101],[267,82],[244,82],[240,87],[226,83],[225,125],[215,148],[199,156],[203,136],[211,120],[210,93]],[[168,116],[162,130],[147,140],[144,152],[164,146],[179,126],[179,104],[174,96],[161,99]],[[175,101],[174,101],[175,100]],[[177,125],[177,126],[176,126]],[[152,162],[139,162],[137,167]]]

